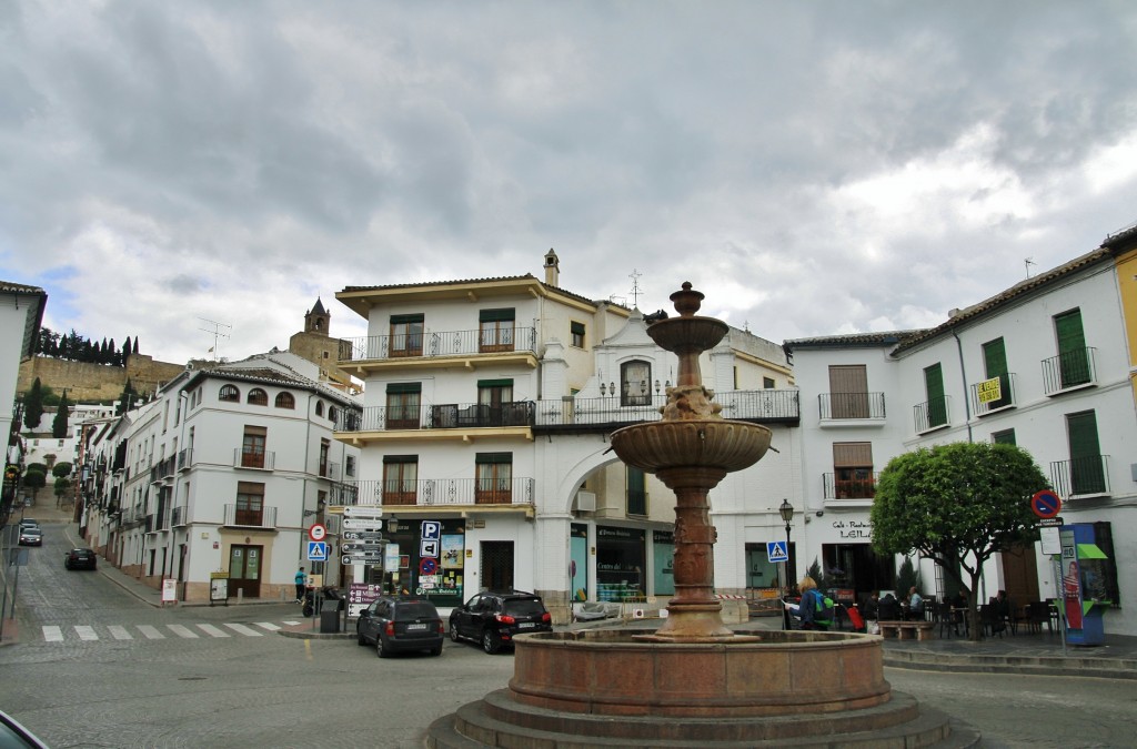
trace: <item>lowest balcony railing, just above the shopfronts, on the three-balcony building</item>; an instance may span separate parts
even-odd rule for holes
[[[329,494],[332,505],[438,507],[446,505],[533,505],[532,478],[418,478],[343,482]]]

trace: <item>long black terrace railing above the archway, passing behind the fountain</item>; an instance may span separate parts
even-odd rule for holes
[[[638,406],[621,406],[619,396],[539,400],[537,401],[534,424],[536,426],[580,426],[658,422],[663,418],[659,409],[667,403],[667,397],[656,394],[647,398],[647,402]],[[723,418],[796,422],[800,417],[797,390],[731,390],[715,393],[712,402],[722,406],[720,415]]]

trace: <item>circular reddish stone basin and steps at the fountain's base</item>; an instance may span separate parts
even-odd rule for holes
[[[429,747],[969,747],[978,733],[883,677],[881,640],[762,632],[642,642],[523,635],[509,688],[435,721]]]

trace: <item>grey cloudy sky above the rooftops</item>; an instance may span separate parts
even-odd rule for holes
[[[1135,38],[1128,0],[3,0],[0,280],[176,363],[549,248],[773,341],[935,325],[1137,220]]]

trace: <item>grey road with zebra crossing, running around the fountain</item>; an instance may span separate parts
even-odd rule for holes
[[[506,684],[511,655],[447,641],[379,659],[355,640],[273,627],[294,605],[156,609],[67,572],[63,526],[20,571],[20,642],[0,648],[0,708],[51,747],[421,747],[437,717]],[[11,572],[9,569],[9,572]],[[1137,746],[1134,682],[888,669],[969,721],[986,747]]]

